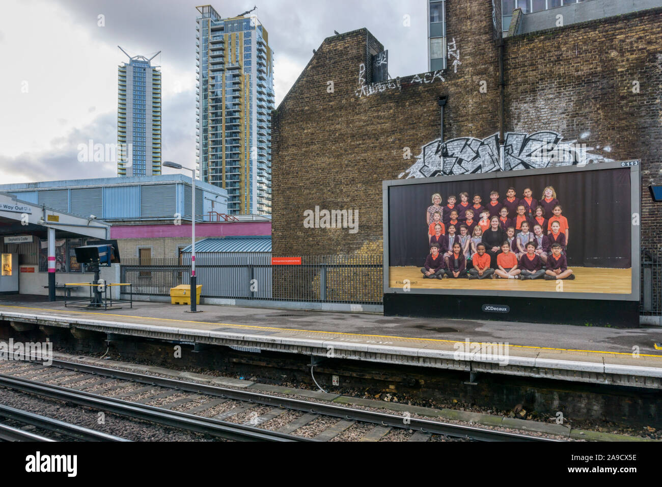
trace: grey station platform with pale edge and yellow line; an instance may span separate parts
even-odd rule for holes
[[[615,329],[505,321],[384,317],[134,301],[83,310],[43,296],[0,297],[0,319],[29,325],[367,360],[465,372],[662,389],[661,327]]]

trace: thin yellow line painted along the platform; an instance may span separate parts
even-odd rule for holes
[[[344,331],[320,331],[320,330],[305,330],[305,329],[296,329],[296,328],[278,328],[278,327],[262,327],[258,325],[233,325],[232,323],[212,323],[211,321],[193,321],[185,319],[173,319],[173,318],[157,318],[153,316],[130,316],[130,315],[115,315],[111,313],[95,313],[94,311],[70,311],[69,309],[48,309],[40,307],[26,307],[26,306],[11,306],[11,305],[0,305],[0,307],[11,307],[18,309],[37,309],[39,311],[54,311],[56,313],[80,313],[84,315],[101,315],[101,316],[117,316],[120,318],[134,318],[134,319],[157,319],[159,321],[177,321],[178,323],[195,323],[197,325],[213,325],[215,327],[235,327],[235,328],[249,328],[249,329],[260,329],[260,330],[277,330],[277,331],[295,331],[297,333],[327,333],[329,335],[344,335],[347,337],[369,337],[369,338],[388,338],[395,340],[419,340],[419,341],[429,341],[437,343],[460,343],[457,340],[442,340],[434,338],[415,338],[415,337],[397,337],[395,335],[364,335],[362,333],[347,333]],[[471,342],[470,343],[478,343]],[[481,342],[485,343],[485,342]],[[489,343],[489,342],[487,342]],[[559,349],[555,347],[536,347],[534,345],[510,345],[508,347],[514,347],[518,349],[534,349],[534,350],[551,350],[551,351],[560,351],[560,352],[587,352],[587,353],[608,353],[612,355],[628,355],[632,356],[630,352],[608,352],[602,350],[582,350],[582,349]],[[649,356],[655,358],[662,358],[662,355],[652,355],[652,354],[639,354],[639,356]]]

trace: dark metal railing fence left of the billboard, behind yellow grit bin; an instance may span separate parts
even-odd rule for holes
[[[196,254],[203,298],[271,299],[326,303],[383,303],[381,255],[302,256],[300,265],[274,265],[271,257],[233,252]],[[134,296],[169,296],[189,284],[190,258],[122,259],[122,282]]]

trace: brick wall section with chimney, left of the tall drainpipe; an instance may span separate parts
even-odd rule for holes
[[[498,91],[479,92],[481,80],[496,87],[498,76],[491,0],[447,4],[448,39],[455,39],[463,64],[457,73],[452,66],[446,70],[444,81],[432,81],[434,73],[408,76],[384,91],[357,96],[359,65],[365,64],[369,84],[369,53],[381,44],[363,28],[326,38],[317,49],[273,115],[275,256],[381,252],[382,181],[397,178],[420,147],[439,136],[440,95],[452,100],[446,137],[494,131]],[[412,159],[404,160],[404,148]],[[316,205],[358,209],[359,231],[305,228],[304,211]]]

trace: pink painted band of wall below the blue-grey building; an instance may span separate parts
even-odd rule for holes
[[[196,223],[195,239],[271,235],[271,222]],[[113,225],[111,239],[191,237],[191,225]]]

